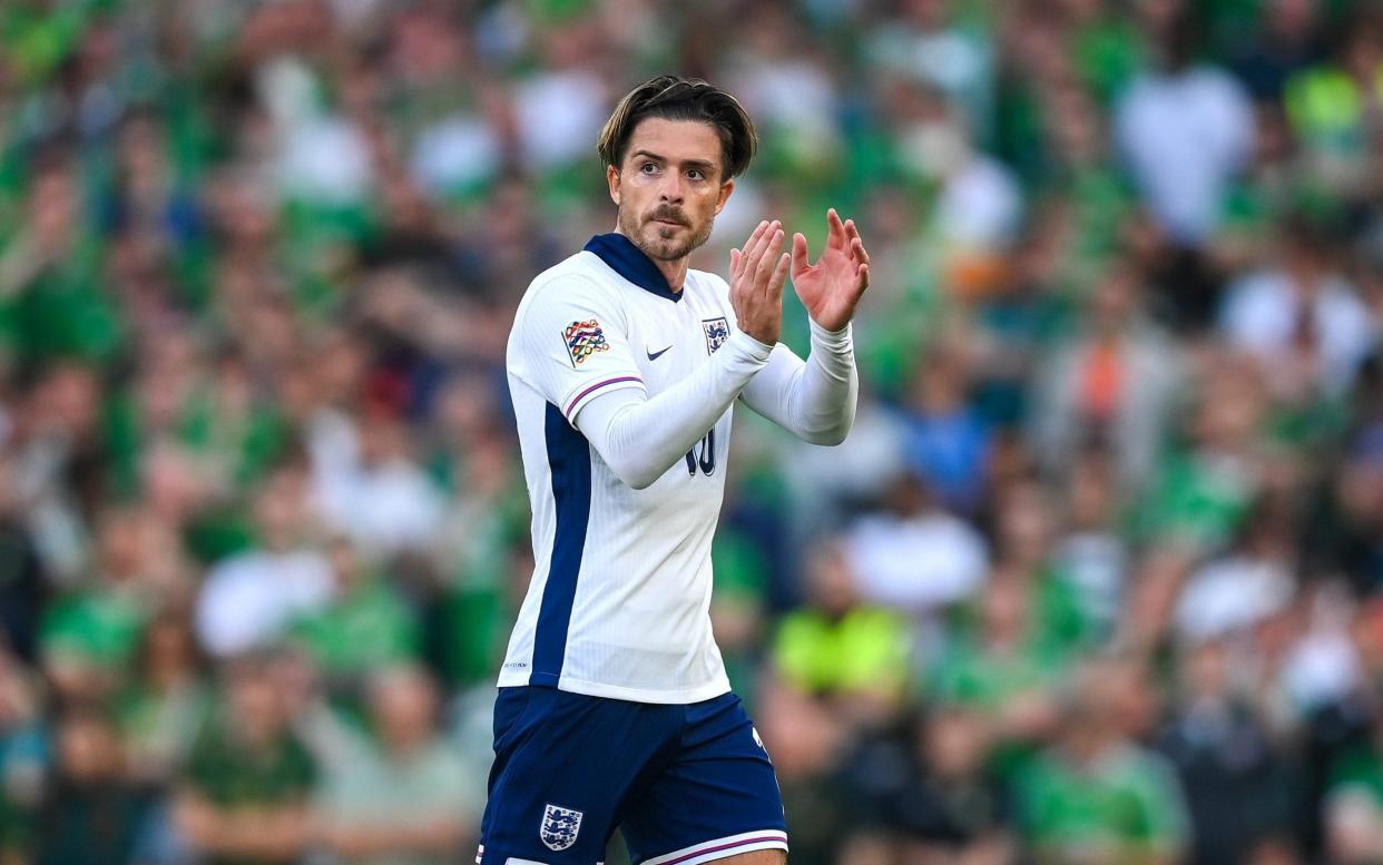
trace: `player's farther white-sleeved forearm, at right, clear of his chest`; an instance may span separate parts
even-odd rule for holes
[[[773,352],[768,368],[744,388],[744,402],[813,445],[838,445],[855,423],[859,374],[849,325],[830,332],[812,322],[812,351],[802,361]]]

